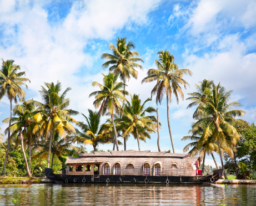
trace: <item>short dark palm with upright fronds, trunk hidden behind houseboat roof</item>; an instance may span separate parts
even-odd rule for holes
[[[93,150],[96,151],[96,147],[102,143],[107,144],[114,141],[113,136],[111,136],[111,132],[109,131],[108,126],[101,123],[101,116],[98,112],[88,110],[89,116],[86,117],[84,114],[84,118],[86,118],[86,123],[79,122],[79,127],[82,129],[82,132],[77,131],[77,136],[74,138],[74,142],[84,143],[84,145],[92,145]]]

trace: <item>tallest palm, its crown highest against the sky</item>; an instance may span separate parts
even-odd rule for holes
[[[106,63],[102,65],[103,69],[109,67],[109,71],[114,74],[119,75],[121,80],[123,80],[124,87],[123,90],[126,91],[126,80],[130,79],[130,76],[137,79],[138,71],[135,68],[143,69],[141,65],[136,62],[144,62],[143,59],[138,58],[138,52],[132,52],[132,49],[135,49],[133,42],[126,42],[126,38],[117,38],[116,47],[110,43],[109,49],[112,51],[112,54],[104,53],[101,58],[106,59]],[[124,97],[126,93],[124,92]],[[123,104],[124,109],[124,104]],[[122,119],[123,112],[121,111],[120,118]],[[126,150],[126,137],[124,137],[124,150]]]

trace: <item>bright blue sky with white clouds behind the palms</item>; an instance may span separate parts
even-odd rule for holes
[[[71,100],[69,109],[88,115],[93,107],[91,92],[98,88],[92,82],[102,82],[103,53],[110,53],[109,43],[126,37],[135,44],[135,51],[144,60],[138,78],[130,79],[127,91],[139,94],[142,101],[150,97],[155,83],[141,81],[148,69],[156,68],[157,52],[169,50],[180,69],[187,68],[192,76],[184,76],[190,87],[183,88],[184,101],[172,98],[170,125],[176,153],[183,153],[189,142],[181,141],[193,122],[195,108],[187,109],[189,92],[203,79],[220,83],[233,90],[231,101],[239,101],[248,122],[256,122],[256,1],[68,1],[0,0],[0,58],[13,59],[31,80],[27,99],[41,101],[39,90],[44,83],[67,87]],[[129,100],[129,97],[128,97]],[[171,150],[167,125],[166,98],[159,105],[155,96],[147,106],[159,108],[160,148]],[[9,100],[0,101],[0,120],[9,117]],[[82,115],[78,121],[85,121]],[[106,117],[102,117],[102,123]],[[0,122],[1,130],[7,124]],[[157,151],[157,133],[142,150]],[[99,149],[111,150],[112,145]],[[86,146],[87,151],[93,150]],[[123,150],[123,146],[120,146]],[[138,150],[137,141],[129,137],[128,150]],[[217,157],[217,154],[215,154]],[[219,158],[217,158],[218,162]],[[206,164],[214,166],[211,157]]]

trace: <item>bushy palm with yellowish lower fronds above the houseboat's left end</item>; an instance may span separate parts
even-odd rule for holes
[[[55,85],[54,83],[44,83],[44,85],[46,88],[42,86],[42,90],[39,91],[43,104],[35,102],[41,108],[41,115],[38,115],[38,121],[42,122],[39,136],[50,138],[47,158],[47,167],[49,167],[54,132],[57,132],[61,137],[66,137],[66,135],[72,135],[73,133],[76,134],[76,130],[71,123],[78,124],[78,122],[71,116],[77,115],[78,112],[67,109],[69,99],[65,99],[65,96],[71,90],[70,87],[61,94],[61,83],[57,82]]]

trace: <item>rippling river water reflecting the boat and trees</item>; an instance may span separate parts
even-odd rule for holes
[[[13,200],[17,200],[13,203]],[[15,201],[14,200],[14,201]],[[256,205],[255,185],[6,184],[0,205]]]

